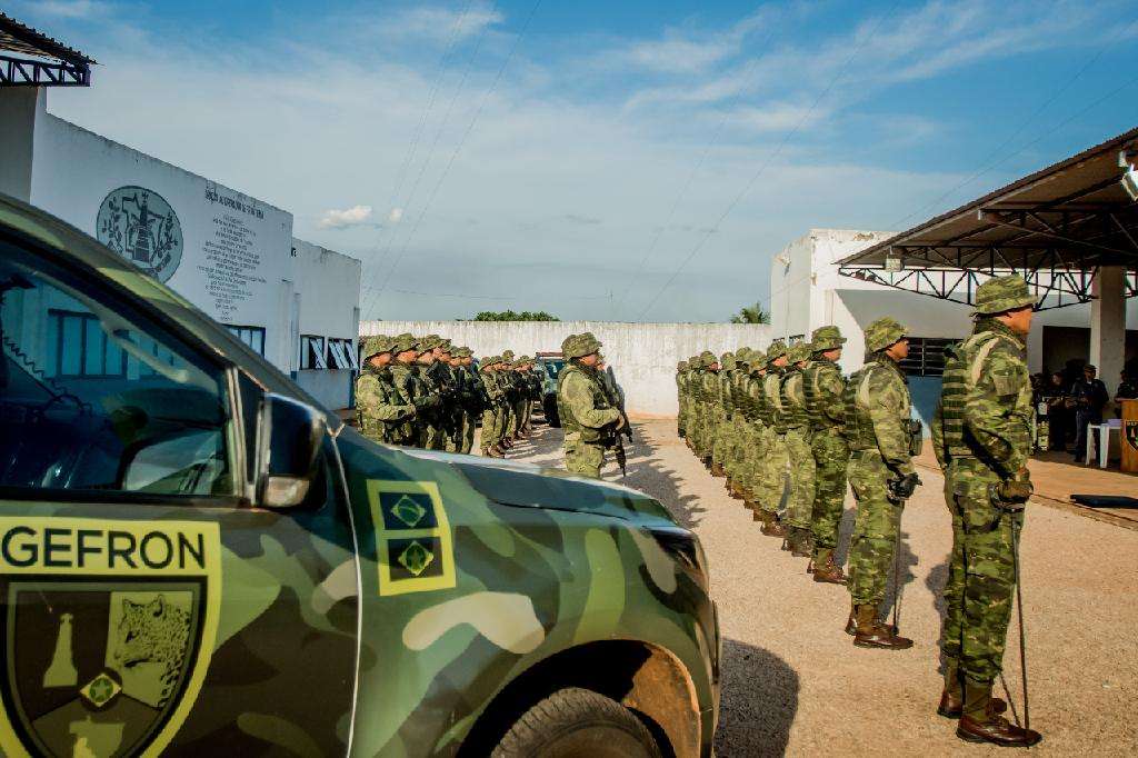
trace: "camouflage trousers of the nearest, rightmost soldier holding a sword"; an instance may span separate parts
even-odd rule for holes
[[[1003,512],[992,504],[988,486],[999,480],[974,458],[954,459],[945,477],[953,555],[941,650],[949,665],[979,684],[993,682],[1003,670],[1016,580],[1012,528],[1023,528],[1022,511]]]

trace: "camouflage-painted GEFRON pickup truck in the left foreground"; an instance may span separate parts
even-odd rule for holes
[[[0,752],[709,756],[719,633],[654,500],[382,447],[0,196]]]

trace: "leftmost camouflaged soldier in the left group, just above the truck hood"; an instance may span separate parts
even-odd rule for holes
[[[415,406],[391,381],[394,348],[395,339],[385,335],[364,339],[363,371],[356,379],[356,426],[372,442],[405,445],[412,435]]]

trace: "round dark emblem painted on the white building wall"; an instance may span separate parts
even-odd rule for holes
[[[107,195],[96,220],[99,241],[158,281],[182,262],[182,225],[166,199],[142,187],[119,187]]]

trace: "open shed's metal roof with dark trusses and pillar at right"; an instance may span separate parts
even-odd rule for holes
[[[1125,299],[1138,296],[1138,129],[1024,176],[839,263],[842,275],[965,305],[1020,273],[1038,308],[1090,303],[1090,360],[1113,385]]]

